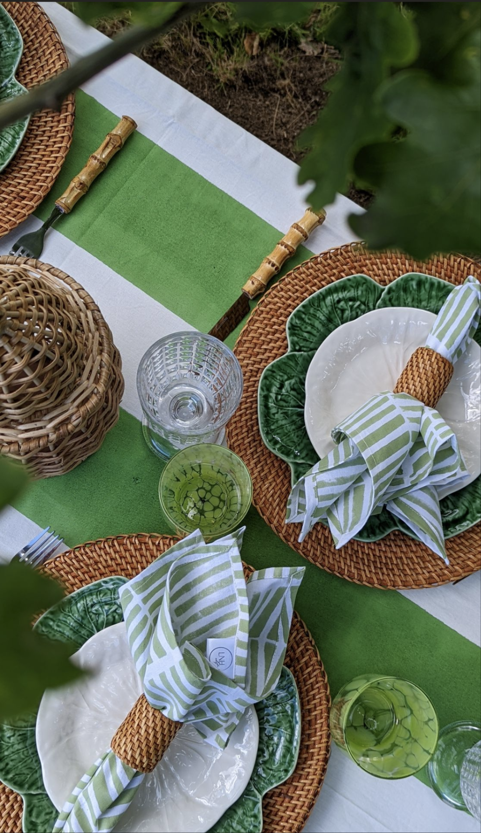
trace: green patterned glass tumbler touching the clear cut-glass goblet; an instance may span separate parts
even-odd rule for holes
[[[240,525],[252,501],[252,481],[241,457],[201,443],[179,451],[159,482],[161,509],[177,535],[200,529],[206,540]]]

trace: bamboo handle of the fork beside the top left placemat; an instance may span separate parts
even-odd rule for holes
[[[102,142],[102,145],[97,149],[92,156],[88,157],[87,165],[82,167],[82,171],[77,173],[77,177],[73,177],[72,182],[67,189],[62,193],[62,197],[58,197],[55,201],[57,208],[64,214],[69,214],[74,205],[87,193],[89,187],[92,185],[99,173],[105,171],[108,163],[117,151],[120,151],[124,146],[126,139],[136,129],[136,122],[130,116],[122,116],[121,121],[114,127]]]

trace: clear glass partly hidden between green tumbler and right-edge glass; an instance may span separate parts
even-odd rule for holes
[[[464,755],[481,737],[481,727],[469,721],[444,726],[434,756],[428,764],[429,780],[440,799],[456,810],[469,812],[460,786]]]

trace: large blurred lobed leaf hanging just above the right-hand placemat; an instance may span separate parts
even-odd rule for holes
[[[376,188],[376,199],[363,216],[351,215],[351,227],[371,247],[396,247],[419,259],[479,251],[479,80],[454,86],[409,71],[394,77],[382,100],[409,133],[358,154],[355,174]]]

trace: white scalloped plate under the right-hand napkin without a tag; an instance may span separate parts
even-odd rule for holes
[[[335,446],[330,431],[374,394],[392,391],[416,347],[423,347],[436,316],[410,307],[385,307],[342,324],[320,345],[305,377],[305,428],[320,457]],[[436,410],[458,437],[469,471],[481,473],[481,349],[471,342],[454,365]]]

